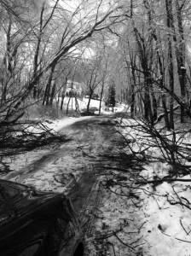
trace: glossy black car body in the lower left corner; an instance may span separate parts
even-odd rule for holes
[[[66,195],[0,180],[1,256],[83,256],[83,235]]]

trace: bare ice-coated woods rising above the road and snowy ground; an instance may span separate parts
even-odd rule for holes
[[[190,118],[189,1],[25,3],[0,1],[1,137],[30,105],[63,110],[68,80],[104,102],[114,84],[113,107],[128,104],[152,126]]]

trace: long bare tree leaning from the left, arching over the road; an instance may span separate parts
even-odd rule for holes
[[[84,1],[82,1],[82,3],[84,3]],[[72,13],[68,10],[66,20],[70,20],[70,22],[67,22],[68,26],[65,27],[62,34],[59,35],[60,44],[57,44],[59,46],[55,45],[55,49],[54,47],[51,48],[53,49],[51,58],[44,61],[43,67],[38,68],[38,71],[32,73],[30,79],[27,80],[24,89],[20,93],[19,99],[14,101],[14,105],[9,108],[9,116],[16,113],[17,109],[20,108],[22,103],[25,102],[26,98],[31,94],[32,90],[34,90],[39,79],[43,77],[43,74],[54,67],[55,63],[60,61],[62,56],[67,55],[69,51],[87,38],[90,38],[95,32],[100,32],[119,20],[119,18],[113,15],[118,8],[116,4],[111,6],[109,4],[106,5],[103,1],[99,1],[93,14],[90,14],[90,9],[84,12],[82,3],[79,3],[78,7],[74,9]],[[101,10],[102,5],[105,6],[104,11]],[[63,9],[63,6],[60,5],[59,9]],[[79,17],[82,18],[78,21]],[[69,24],[72,24],[72,29]]]

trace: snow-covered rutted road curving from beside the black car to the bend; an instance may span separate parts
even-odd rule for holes
[[[18,155],[10,165],[13,171],[3,178],[68,195],[84,228],[88,250],[94,237],[94,214],[103,196],[101,175],[118,154],[123,138],[115,130],[113,116],[67,119],[55,130],[69,140]]]

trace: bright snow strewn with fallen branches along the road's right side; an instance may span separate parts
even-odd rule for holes
[[[123,119],[121,124],[129,126],[119,129],[131,141],[131,149],[138,152],[148,147],[145,134],[133,127],[137,125],[136,120]],[[185,141],[190,143],[188,138]],[[161,151],[155,145],[153,143],[153,148],[146,152],[162,159]],[[124,148],[127,153],[128,148]],[[122,189],[115,185],[113,193],[107,193],[97,230],[105,236],[113,235],[108,238],[112,255],[190,256],[191,176],[181,177],[182,180],[189,179],[188,182],[135,183],[140,177],[143,181],[159,180],[171,170],[171,166],[162,160],[150,161],[142,167],[137,177],[130,173],[135,172],[133,170],[121,174],[127,177]]]

